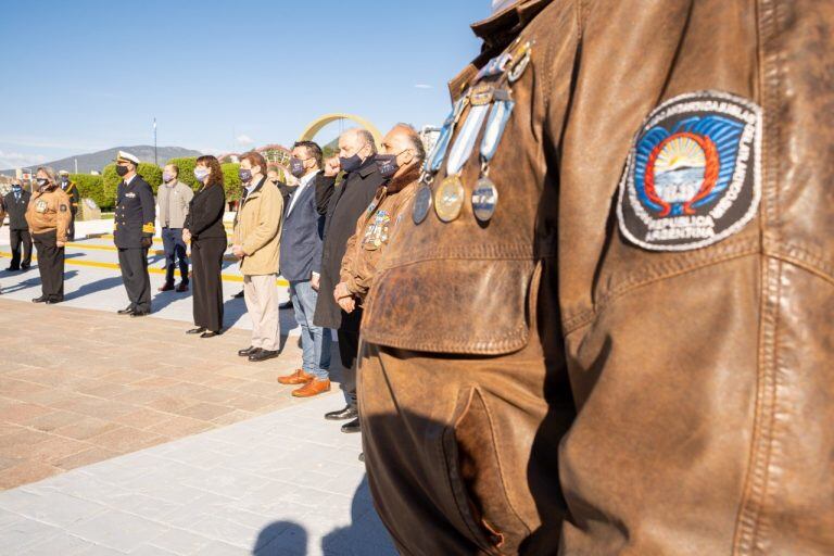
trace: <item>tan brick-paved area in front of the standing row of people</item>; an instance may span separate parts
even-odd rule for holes
[[[0,329],[54,338],[0,352],[0,490],[303,403],[275,381],[301,359],[294,339],[252,364],[237,355],[247,330],[200,341],[181,321],[138,320],[0,299]]]

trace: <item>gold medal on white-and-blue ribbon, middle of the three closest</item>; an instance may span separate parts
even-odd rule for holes
[[[452,222],[460,215],[466,198],[464,184],[460,181],[460,170],[472,154],[489,110],[489,104],[472,105],[448,153],[446,178],[434,191],[434,212],[443,222]]]

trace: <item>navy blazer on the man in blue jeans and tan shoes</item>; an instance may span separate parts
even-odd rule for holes
[[[316,206],[316,180],[319,173],[301,193],[298,189],[291,197],[300,194],[290,208],[290,199],[283,208],[283,228],[281,231],[281,254],[279,268],[288,280],[309,280],[313,273],[321,273],[321,236],[325,231],[325,216],[318,214]]]

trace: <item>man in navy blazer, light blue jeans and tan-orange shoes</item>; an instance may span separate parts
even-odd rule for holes
[[[290,300],[295,320],[301,327],[304,352],[302,368],[286,377],[281,384],[296,384],[296,397],[311,397],[330,390],[330,330],[313,324],[321,266],[321,238],[325,216],[316,205],[316,179],[321,169],[321,148],[312,141],[296,142],[292,149],[290,170],[301,181],[286,203],[279,266],[290,282]]]

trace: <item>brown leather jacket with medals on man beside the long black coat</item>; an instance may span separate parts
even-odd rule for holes
[[[381,186],[356,222],[356,232],[348,240],[342,257],[341,281],[359,300],[368,294],[379,261],[403,219],[410,218],[406,208],[416,191],[414,177],[404,186]]]

